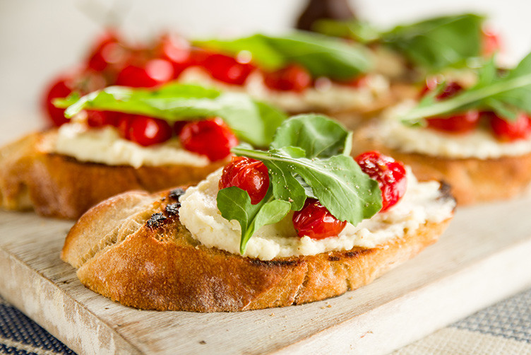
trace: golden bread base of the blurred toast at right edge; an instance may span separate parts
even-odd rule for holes
[[[446,158],[391,149],[374,138],[368,124],[354,133],[352,156],[376,150],[410,165],[419,181],[439,180],[451,186],[460,206],[509,199],[527,193],[531,184],[531,153],[502,158]]]

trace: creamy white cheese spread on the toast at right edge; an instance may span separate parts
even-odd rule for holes
[[[503,142],[496,139],[487,127],[479,127],[467,134],[407,127],[397,117],[412,105],[412,102],[402,103],[386,112],[383,121],[369,130],[369,136],[392,149],[446,158],[488,159],[531,153],[531,138]]]

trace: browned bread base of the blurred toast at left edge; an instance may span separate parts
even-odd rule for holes
[[[77,219],[91,206],[128,190],[160,191],[196,183],[225,161],[205,167],[82,163],[46,153],[47,136],[37,132],[0,149],[0,200],[4,209],[35,209],[42,216]]]

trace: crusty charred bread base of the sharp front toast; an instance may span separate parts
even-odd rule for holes
[[[61,259],[89,289],[135,308],[251,310],[357,289],[434,243],[450,220],[377,248],[262,261],[198,243],[179,222],[178,195],[126,192],[98,204],[68,233]]]

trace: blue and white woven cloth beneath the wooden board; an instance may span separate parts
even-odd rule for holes
[[[75,353],[0,298],[0,354]],[[531,289],[393,353],[417,354],[531,354]]]

